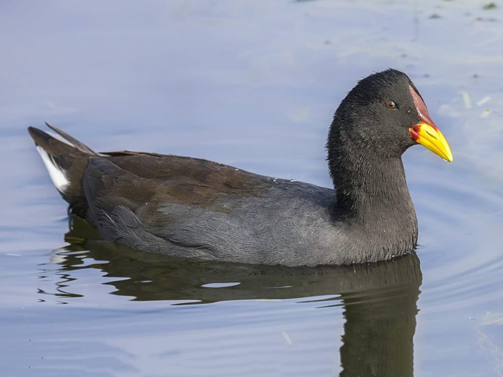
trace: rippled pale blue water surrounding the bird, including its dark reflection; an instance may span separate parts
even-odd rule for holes
[[[503,375],[503,4],[3,2],[6,376]],[[491,7],[488,7],[491,8]],[[404,70],[454,152],[404,155],[417,253],[283,268],[146,255],[68,219],[26,133],[329,186],[332,113]]]

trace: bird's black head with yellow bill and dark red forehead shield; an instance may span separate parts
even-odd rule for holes
[[[388,69],[358,82],[336,111],[327,149],[356,155],[399,157],[421,144],[451,162],[447,140],[428,113],[420,93],[403,72]]]

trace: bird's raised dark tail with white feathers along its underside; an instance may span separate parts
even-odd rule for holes
[[[28,132],[35,141],[37,151],[56,189],[68,202],[70,210],[83,216],[87,203],[82,188],[82,176],[89,158],[98,154],[58,128],[47,123],[46,125],[57,135],[34,127],[29,127]]]

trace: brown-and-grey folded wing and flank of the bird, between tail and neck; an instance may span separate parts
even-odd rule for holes
[[[312,253],[317,264],[311,246],[331,221],[333,190],[196,158],[110,153],[90,158],[83,183],[88,220],[144,251],[272,264]]]

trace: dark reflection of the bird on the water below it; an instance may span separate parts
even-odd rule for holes
[[[68,291],[74,279],[72,271],[83,268],[96,268],[107,277],[117,277],[106,283],[116,288],[113,294],[136,301],[169,300],[187,305],[323,296],[320,306],[345,308],[341,376],[413,375],[412,338],[422,281],[415,253],[393,261],[354,266],[281,267],[195,261],[102,241],[96,230],[76,217],[70,218],[65,239],[70,245],[51,254],[50,264],[61,265],[57,273],[63,279],[57,284],[58,296],[80,296]],[[83,265],[83,256],[97,262]],[[50,270],[44,269],[44,274]],[[229,283],[225,289],[207,288],[225,283]]]

